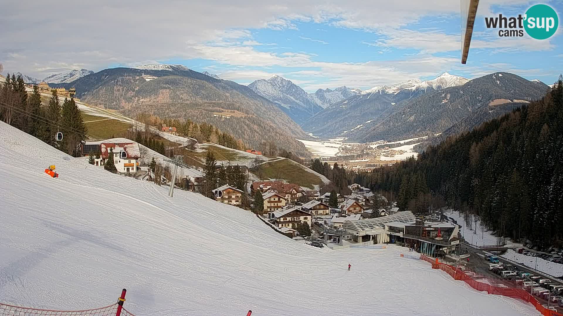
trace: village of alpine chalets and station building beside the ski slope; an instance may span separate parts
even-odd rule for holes
[[[169,127],[162,130],[174,132]],[[142,145],[129,139],[113,138],[83,142],[82,155],[100,168],[111,159],[117,173],[154,181],[154,171],[141,163],[141,160],[148,160],[141,157],[144,152],[141,148]],[[261,155],[252,150],[248,153]],[[147,155],[154,157],[154,154]],[[245,172],[248,173],[248,169]],[[176,179],[177,188],[202,192],[203,170],[184,167],[181,175]],[[166,177],[161,177],[161,184],[171,185]],[[321,193],[318,189],[283,180],[251,181],[247,192],[240,186],[219,184],[211,190],[214,200],[253,211],[266,225],[297,242],[330,249],[396,243],[430,256],[459,253],[462,238],[458,225],[444,222],[436,214],[415,215],[400,210],[396,202],[359,184],[348,186],[349,195],[335,191]]]

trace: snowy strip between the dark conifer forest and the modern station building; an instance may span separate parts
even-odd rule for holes
[[[460,214],[458,211],[454,211],[452,209],[444,211],[444,215],[448,216],[448,221],[453,222],[461,225],[461,234],[465,241],[471,243],[472,245],[476,246],[491,246],[491,245],[500,245],[502,244],[503,240],[499,241],[497,236],[493,236],[490,231],[484,228],[481,225],[481,220],[477,219],[477,225],[475,225],[475,218],[473,215],[470,214],[471,224],[467,224],[465,222],[465,215]],[[512,242],[509,238],[504,238],[504,242],[506,242],[507,246],[510,247],[519,247],[522,246],[520,243]]]

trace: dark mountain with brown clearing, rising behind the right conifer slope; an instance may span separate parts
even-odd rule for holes
[[[371,142],[460,133],[538,100],[548,89],[542,82],[494,73],[405,99],[389,107],[371,124],[350,130],[346,136],[350,141]]]

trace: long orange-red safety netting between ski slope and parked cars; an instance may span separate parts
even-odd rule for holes
[[[556,312],[555,310],[545,308],[533,295],[528,291],[522,290],[522,288],[511,288],[511,287],[498,287],[482,283],[472,279],[470,276],[465,274],[461,269],[456,269],[452,265],[438,262],[436,259],[429,258],[425,255],[421,255],[421,260],[427,261],[432,264],[432,268],[437,268],[448,273],[452,278],[456,280],[462,280],[466,282],[472,288],[477,291],[486,291],[488,294],[502,295],[507,297],[512,297],[513,299],[520,299],[534,305],[538,312],[542,313],[544,316],[563,316],[563,314]]]

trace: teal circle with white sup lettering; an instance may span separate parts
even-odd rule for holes
[[[535,39],[546,39],[555,34],[559,19],[553,8],[546,4],[535,4],[526,11],[524,29]]]

